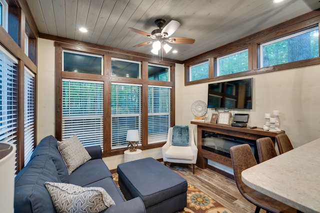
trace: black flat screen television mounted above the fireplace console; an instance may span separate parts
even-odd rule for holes
[[[252,109],[252,78],[209,84],[207,108]]]

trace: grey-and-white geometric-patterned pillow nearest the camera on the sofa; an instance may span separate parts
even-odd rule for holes
[[[57,213],[99,213],[114,201],[101,187],[80,187],[64,183],[44,183]]]

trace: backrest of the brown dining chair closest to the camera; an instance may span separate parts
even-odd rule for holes
[[[257,165],[251,148],[248,144],[240,144],[230,148],[230,155],[233,167],[233,176],[239,192],[243,195],[253,191],[241,180],[241,172]]]

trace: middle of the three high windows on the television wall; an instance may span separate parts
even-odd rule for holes
[[[232,54],[216,58],[216,76],[228,75],[248,70],[248,50],[244,49]]]

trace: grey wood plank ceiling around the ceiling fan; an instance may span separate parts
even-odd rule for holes
[[[181,25],[172,36],[195,39],[193,44],[170,44],[178,53],[164,57],[180,61],[320,7],[318,0],[26,1],[40,33],[145,54],[152,54],[150,45],[132,46],[151,39],[128,27],[151,33],[155,19],[175,19]]]

